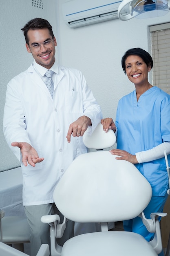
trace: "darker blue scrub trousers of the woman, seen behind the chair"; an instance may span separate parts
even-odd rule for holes
[[[167,197],[168,194],[166,194],[165,196],[152,196],[150,203],[148,204],[146,209],[144,209],[145,217],[150,219],[150,213],[163,212],[163,207],[166,203]],[[158,219],[160,221],[161,217],[159,217]],[[123,224],[125,231],[131,231],[140,234],[148,242],[154,237],[153,233],[148,232],[140,217],[136,217],[132,220],[125,220]],[[159,256],[164,256],[163,251],[159,254]]]

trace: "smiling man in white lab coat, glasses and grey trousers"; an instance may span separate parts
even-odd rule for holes
[[[53,190],[73,159],[87,152],[82,135],[88,126],[95,129],[102,114],[83,74],[55,61],[57,42],[49,22],[35,18],[22,31],[34,61],[7,86],[4,136],[21,162],[35,256],[42,243],[49,243],[49,225],[40,218],[54,213]],[[47,70],[54,72],[53,97],[46,87]]]

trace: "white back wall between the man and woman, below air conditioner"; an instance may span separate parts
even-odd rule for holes
[[[60,2],[60,60],[84,73],[102,107],[104,117],[113,117],[118,100],[134,86],[121,68],[121,57],[132,47],[150,52],[148,26],[170,21],[170,12],[159,18],[111,20],[70,29],[62,19]]]

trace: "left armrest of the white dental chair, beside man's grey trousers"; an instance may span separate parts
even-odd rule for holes
[[[54,225],[55,228],[55,238],[62,238],[64,230],[66,229],[67,219],[64,217],[63,222],[60,223],[60,216],[57,214],[54,215],[44,215],[41,217],[43,223],[48,223],[50,226]]]

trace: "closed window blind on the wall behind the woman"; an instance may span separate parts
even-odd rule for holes
[[[153,85],[170,94],[170,23],[150,26]]]

